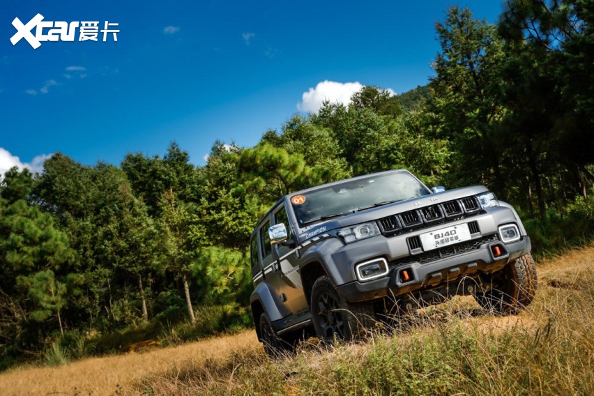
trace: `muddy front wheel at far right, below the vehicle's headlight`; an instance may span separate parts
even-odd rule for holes
[[[517,314],[532,303],[538,284],[536,264],[531,254],[508,263],[494,276],[494,288],[474,298],[485,310]]]

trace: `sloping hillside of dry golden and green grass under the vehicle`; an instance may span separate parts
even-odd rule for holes
[[[269,360],[253,331],[0,374],[3,395],[594,395],[594,247],[541,260],[535,302],[494,317],[471,298],[392,333]]]

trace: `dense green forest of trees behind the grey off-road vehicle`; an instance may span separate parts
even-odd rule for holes
[[[429,186],[487,185],[541,253],[589,238],[593,29],[592,1],[510,1],[497,24],[451,7],[436,24],[434,76],[408,93],[365,86],[254,147],[215,142],[201,167],[172,143],[119,165],[56,153],[40,174],[11,169],[0,183],[0,368],[56,345],[98,353],[89,340],[146,323],[249,326],[258,218],[282,195],[349,176],[404,167]]]

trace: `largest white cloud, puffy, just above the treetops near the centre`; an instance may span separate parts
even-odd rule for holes
[[[351,102],[353,93],[360,91],[363,85],[360,82],[334,82],[325,80],[319,82],[315,88],[304,92],[301,102],[297,103],[300,112],[317,112],[324,100],[331,103],[342,103],[347,106]]]

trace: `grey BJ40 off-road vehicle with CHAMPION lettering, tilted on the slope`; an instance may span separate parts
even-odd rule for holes
[[[282,197],[250,246],[250,303],[271,354],[305,328],[349,340],[390,313],[455,295],[514,313],[537,283],[512,206],[482,186],[429,190],[403,169]]]

